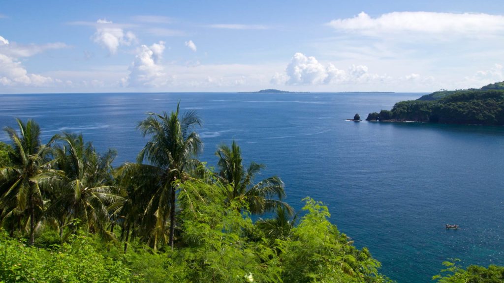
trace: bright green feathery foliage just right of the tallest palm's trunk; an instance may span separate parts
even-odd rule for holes
[[[224,200],[231,190],[220,184],[186,182],[179,202],[183,241],[178,255],[186,267],[182,282],[244,282],[251,276],[258,282],[281,281],[281,268],[273,249],[265,241],[249,242],[243,231],[253,224],[240,209],[246,203]]]

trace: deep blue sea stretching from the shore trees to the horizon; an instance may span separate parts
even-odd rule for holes
[[[200,159],[215,166],[234,139],[245,163],[279,175],[296,209],[311,196],[331,222],[368,247],[381,272],[429,282],[448,258],[504,265],[504,127],[351,122],[419,93],[124,93],[0,95],[0,125],[35,119],[43,137],[82,132],[96,148],[135,161],[146,112],[196,110],[204,121]],[[0,140],[8,141],[0,133]],[[459,231],[444,225],[458,224]]]

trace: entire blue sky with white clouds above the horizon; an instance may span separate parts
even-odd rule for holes
[[[0,94],[432,92],[503,80],[500,0],[0,5]]]

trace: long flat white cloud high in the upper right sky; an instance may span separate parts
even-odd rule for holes
[[[502,34],[504,16],[435,12],[393,12],[371,18],[364,12],[354,18],[337,19],[328,26],[344,32],[380,36],[386,33]]]

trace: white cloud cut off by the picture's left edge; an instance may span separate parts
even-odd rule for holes
[[[16,51],[16,49],[18,49],[17,47],[17,44],[10,43],[9,40],[0,36],[0,85],[46,86],[59,82],[58,80],[54,80],[50,77],[38,74],[29,74],[26,68],[18,60],[18,57],[31,56],[37,52],[20,52],[19,50]],[[37,45],[32,45],[32,47],[32,49],[36,49],[38,52],[44,50],[43,47]]]

